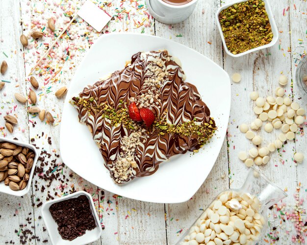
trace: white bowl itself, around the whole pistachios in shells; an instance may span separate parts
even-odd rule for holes
[[[20,190],[20,191],[13,191],[13,190],[11,190],[11,188],[8,185],[4,184],[4,181],[0,182],[0,192],[10,194],[10,195],[13,195],[13,196],[18,196],[18,197],[24,196],[24,195],[26,195],[26,193],[28,193],[28,191],[31,188],[31,182],[32,182],[33,174],[34,174],[34,169],[35,169],[35,165],[37,163],[37,158],[38,158],[37,150],[33,145],[28,144],[28,143],[24,143],[24,142],[21,142],[21,141],[18,141],[18,140],[12,140],[12,139],[0,137],[0,142],[9,142],[9,143],[13,143],[15,145],[27,147],[27,148],[31,149],[35,154],[34,159],[33,159],[33,166],[32,166],[31,172],[29,173],[29,180],[27,182],[25,189]]]

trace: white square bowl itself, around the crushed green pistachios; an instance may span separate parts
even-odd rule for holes
[[[276,26],[276,23],[275,23],[275,20],[274,20],[274,17],[273,17],[273,13],[272,13],[269,1],[268,0],[262,0],[265,3],[265,10],[266,10],[266,13],[269,17],[269,22],[271,24],[271,28],[272,28],[272,32],[273,32],[272,41],[269,44],[262,45],[262,46],[259,46],[259,47],[255,47],[255,48],[249,49],[249,50],[242,52],[242,53],[239,53],[239,54],[233,54],[228,50],[226,42],[225,42],[224,34],[223,34],[223,31],[222,31],[222,26],[221,26],[220,21],[219,21],[219,14],[221,13],[222,10],[230,7],[231,5],[233,5],[235,3],[245,2],[245,1],[247,1],[247,0],[237,0],[237,1],[233,1],[229,4],[225,4],[225,5],[223,5],[222,7],[219,8],[219,10],[216,12],[216,16],[215,16],[215,20],[216,20],[217,26],[219,28],[219,32],[220,32],[220,35],[221,35],[221,38],[222,38],[224,49],[225,49],[226,53],[229,54],[232,57],[240,57],[240,56],[249,54],[251,52],[258,51],[258,50],[263,49],[263,48],[271,47],[271,46],[275,45],[277,40],[278,40],[278,29],[277,29],[277,26]]]

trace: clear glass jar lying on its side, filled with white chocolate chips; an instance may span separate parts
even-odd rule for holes
[[[267,209],[286,196],[252,167],[243,186],[222,191],[177,245],[256,244],[267,228]]]

